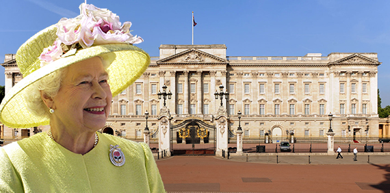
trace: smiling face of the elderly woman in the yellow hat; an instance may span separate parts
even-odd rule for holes
[[[105,126],[112,101],[108,74],[99,57],[68,66],[62,86],[53,98],[59,127],[94,132]]]

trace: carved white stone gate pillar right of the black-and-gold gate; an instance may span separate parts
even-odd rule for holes
[[[216,128],[217,128],[217,149],[216,156],[222,157],[222,150],[228,151],[228,119],[227,112],[223,106],[218,108],[216,117]]]

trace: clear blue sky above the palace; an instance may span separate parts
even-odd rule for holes
[[[79,14],[84,0],[1,1],[0,63],[28,38],[62,17]],[[149,55],[161,44],[226,44],[229,56],[304,56],[307,53],[378,53],[382,107],[390,105],[390,1],[101,1]],[[4,69],[0,67],[0,74]],[[4,85],[4,76],[0,76]]]

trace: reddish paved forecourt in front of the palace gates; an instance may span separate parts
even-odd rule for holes
[[[251,153],[157,160],[168,192],[390,192],[390,155]],[[276,154],[278,154],[276,158]],[[276,164],[276,159],[278,164]]]

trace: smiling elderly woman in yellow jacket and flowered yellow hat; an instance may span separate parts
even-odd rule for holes
[[[5,96],[0,119],[51,130],[0,147],[0,192],[165,192],[146,144],[97,132],[112,95],[146,70],[150,57],[132,46],[143,40],[109,10],[80,10],[16,53],[24,78]]]

